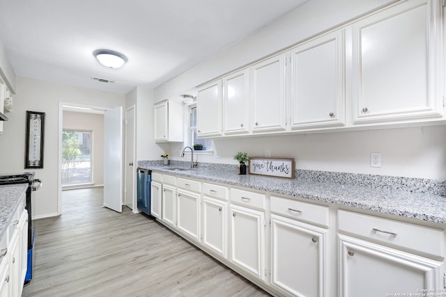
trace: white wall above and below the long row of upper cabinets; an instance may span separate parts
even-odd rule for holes
[[[155,89],[155,102],[180,94],[196,94],[196,86],[263,56],[289,47],[393,1],[318,0],[277,19],[216,56]],[[378,129],[286,136],[255,136],[214,140],[215,155],[199,155],[199,161],[234,163],[232,156],[244,150],[251,156],[293,157],[300,169],[354,172],[403,177],[446,179],[446,127]],[[169,146],[172,159],[183,144]],[[370,152],[381,152],[382,168],[370,167]],[[160,159],[159,157],[157,159]]]

